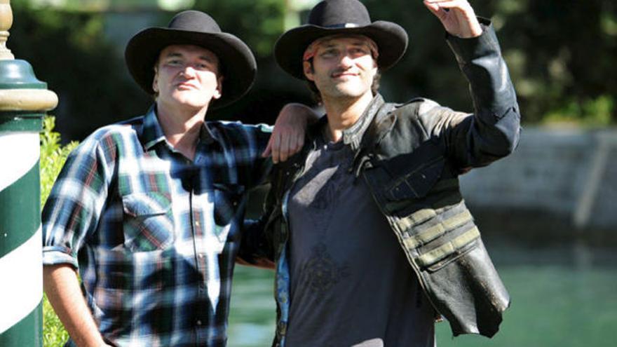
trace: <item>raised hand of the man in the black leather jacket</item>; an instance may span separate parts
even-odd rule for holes
[[[451,35],[470,38],[482,34],[480,22],[467,0],[424,0],[424,6],[439,18]]]

